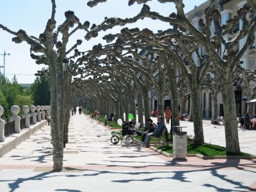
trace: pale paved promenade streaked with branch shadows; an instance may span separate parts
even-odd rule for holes
[[[191,122],[182,124],[192,129]],[[204,124],[205,141],[225,143],[222,125]],[[256,159],[173,159],[149,148],[112,145],[110,132],[84,115],[72,116],[65,168],[52,173],[50,127],[44,127],[0,158],[0,191],[256,191]],[[256,131],[239,131],[244,149],[250,147],[246,132]]]

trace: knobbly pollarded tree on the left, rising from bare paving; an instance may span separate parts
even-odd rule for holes
[[[28,35],[26,31],[12,31],[0,24],[0,28],[12,34],[12,41],[16,44],[26,42],[30,46],[30,55],[36,64],[44,64],[49,67],[51,80],[51,136],[52,159],[54,171],[60,171],[63,167],[63,148],[68,142],[68,123],[70,120],[70,94],[72,76],[76,74],[78,66],[83,63],[84,52],[79,52],[77,47],[82,40],[68,41],[76,35],[78,30],[88,32],[90,22],[83,24],[74,12],[65,12],[65,20],[56,26],[56,1],[51,0],[51,17],[47,20],[44,31],[38,36]],[[64,110],[63,110],[64,109]]]

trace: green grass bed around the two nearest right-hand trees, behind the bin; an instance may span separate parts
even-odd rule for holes
[[[172,145],[162,145],[155,146],[158,149],[167,152],[168,154],[173,153]],[[246,154],[241,152],[241,154],[227,154],[226,148],[219,145],[211,145],[204,143],[202,145],[195,145],[188,143],[188,154],[201,154],[203,156],[251,156],[251,154]]]

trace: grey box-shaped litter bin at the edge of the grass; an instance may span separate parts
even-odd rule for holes
[[[187,132],[173,132],[173,157],[186,159],[187,153]]]

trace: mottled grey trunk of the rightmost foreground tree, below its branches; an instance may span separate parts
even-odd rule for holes
[[[222,72],[222,74],[224,74]],[[225,137],[226,148],[230,154],[239,154],[239,139],[237,132],[237,120],[236,120],[236,100],[235,93],[231,77],[222,77],[223,82],[223,109],[225,116]]]

